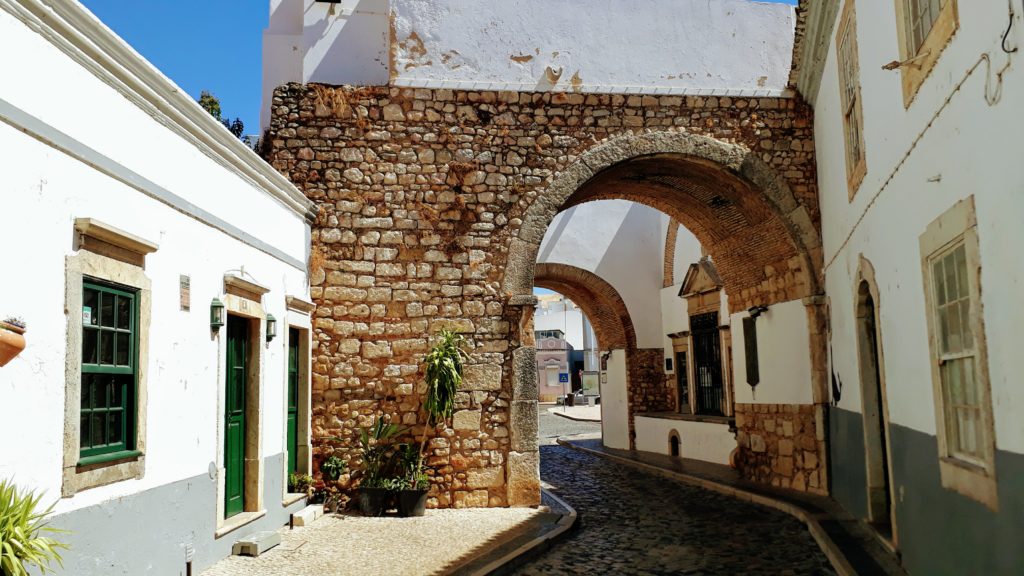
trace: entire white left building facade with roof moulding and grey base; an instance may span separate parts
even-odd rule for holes
[[[295,302],[309,299],[313,208],[78,3],[0,0],[0,50],[31,54],[0,78],[0,314],[28,323],[26,349],[0,369],[0,436],[17,439],[0,446],[0,477],[56,501],[75,574],[177,575],[189,560],[198,573],[301,506],[284,503],[287,327],[308,337]],[[257,314],[258,509],[218,538],[241,524],[218,495],[225,332],[210,303],[230,299],[225,274],[264,286],[238,305],[279,330],[267,342]],[[130,288],[139,312],[138,454],[113,463],[80,458],[83,279]]]

